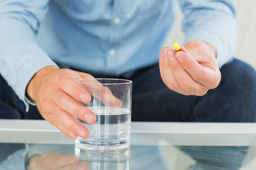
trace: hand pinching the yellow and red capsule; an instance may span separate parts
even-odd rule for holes
[[[215,48],[193,40],[182,51],[162,48],[159,66],[163,82],[168,88],[184,95],[203,96],[216,88],[221,80]]]

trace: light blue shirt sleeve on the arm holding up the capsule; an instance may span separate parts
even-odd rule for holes
[[[219,68],[233,59],[237,26],[234,0],[179,0],[185,40],[201,40],[217,51]]]

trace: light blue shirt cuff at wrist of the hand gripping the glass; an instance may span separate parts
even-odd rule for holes
[[[25,106],[26,106],[26,112],[29,111],[29,104],[36,105],[33,101],[29,100],[29,98],[26,96],[26,87],[30,81],[30,79],[34,76],[36,72],[41,70],[41,68],[44,68],[46,66],[56,66],[59,68],[59,66],[52,61],[47,55],[44,54],[38,54],[36,57],[33,55],[31,57],[28,57],[25,62],[22,62],[22,64],[17,69],[16,74],[16,85],[19,85],[19,87],[16,87],[17,89],[17,95],[20,98],[20,100],[23,100]]]

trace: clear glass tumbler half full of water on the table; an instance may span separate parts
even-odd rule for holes
[[[93,125],[78,119],[89,137],[76,139],[76,147],[91,150],[118,150],[130,146],[132,81],[125,79],[77,79],[91,95],[83,104],[96,115]]]

